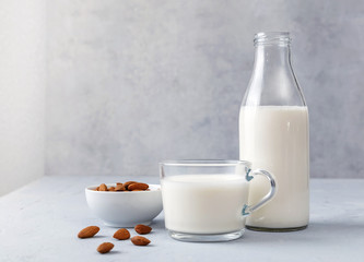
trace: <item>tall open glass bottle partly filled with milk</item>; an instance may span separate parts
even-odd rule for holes
[[[258,33],[255,64],[239,115],[240,159],[275,177],[273,200],[247,218],[256,230],[304,229],[309,216],[308,111],[291,64],[290,34]],[[255,178],[249,204],[257,203],[270,186]]]

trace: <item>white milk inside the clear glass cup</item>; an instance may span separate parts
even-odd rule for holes
[[[238,175],[180,175],[161,180],[165,226],[188,234],[223,234],[245,227],[249,188]]]

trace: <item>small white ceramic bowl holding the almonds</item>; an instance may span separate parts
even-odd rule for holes
[[[115,187],[115,184],[106,184]],[[111,227],[134,227],[149,225],[162,209],[160,184],[149,184],[150,191],[94,191],[97,186],[85,189],[86,201],[91,211]]]

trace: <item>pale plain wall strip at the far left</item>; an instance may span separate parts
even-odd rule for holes
[[[45,171],[45,0],[0,0],[0,196]]]

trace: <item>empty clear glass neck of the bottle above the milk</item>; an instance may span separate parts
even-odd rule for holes
[[[243,105],[305,106],[289,43],[255,43],[255,64]]]

